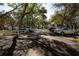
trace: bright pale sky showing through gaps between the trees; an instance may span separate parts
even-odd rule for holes
[[[42,4],[43,7],[45,7],[47,9],[47,20],[50,19],[50,17],[54,14],[55,12],[55,8],[52,7],[52,4],[51,3],[48,3],[48,4]],[[0,6],[0,11],[2,10],[5,10],[5,11],[10,11],[12,8],[11,7],[8,7],[7,5],[4,5],[4,6]]]

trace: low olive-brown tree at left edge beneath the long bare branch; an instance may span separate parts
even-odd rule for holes
[[[2,13],[0,15],[2,15]],[[13,29],[14,23],[15,20],[9,14],[0,18],[1,29],[6,29],[5,26],[7,26],[7,28],[11,26]]]

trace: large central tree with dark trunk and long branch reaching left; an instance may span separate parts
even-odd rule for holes
[[[45,14],[47,11],[41,5],[36,3],[8,3],[7,5],[12,7],[12,10],[4,12],[0,17],[11,16],[15,21],[11,23],[15,24],[14,26],[18,26],[19,28],[23,26],[34,28],[45,26]]]

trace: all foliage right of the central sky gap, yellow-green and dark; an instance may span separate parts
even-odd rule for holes
[[[78,3],[58,3],[54,4],[58,9],[58,14],[52,16],[52,21],[55,23],[61,23],[63,26],[64,24],[70,28],[77,28],[76,17],[79,17],[79,4]],[[59,15],[61,14],[61,15]],[[76,19],[76,20],[75,20]]]

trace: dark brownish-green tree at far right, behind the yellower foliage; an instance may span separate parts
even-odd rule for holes
[[[73,4],[73,3],[59,3],[59,4],[55,4],[56,7],[61,8],[60,11],[62,11],[63,13],[63,21],[62,21],[62,25],[66,24],[67,26],[71,27],[71,28],[77,28],[77,23],[75,22],[76,17],[79,16],[79,4]],[[63,10],[62,10],[63,9]]]

